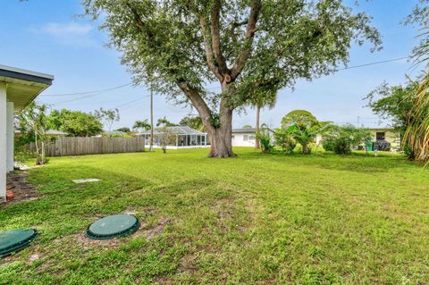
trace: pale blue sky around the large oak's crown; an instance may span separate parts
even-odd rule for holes
[[[374,17],[374,27],[383,36],[383,50],[371,54],[370,46],[353,46],[349,66],[408,56],[416,45],[418,30],[404,27],[400,21],[410,13],[416,0],[360,2],[358,9]],[[105,46],[108,40],[105,32],[97,29],[97,23],[76,16],[80,13],[80,1],[74,0],[2,1],[0,64],[53,74],[54,85],[38,100],[53,108],[89,112],[99,107],[119,106],[121,121],[114,124],[117,128],[130,127],[136,120],[148,118],[149,105],[144,98],[148,91],[144,86],[91,96],[47,96],[130,82],[130,74],[120,63],[120,54]],[[262,122],[276,127],[284,114],[306,109],[323,121],[356,123],[359,117],[367,127],[384,126],[388,122],[380,123],[362,98],[383,80],[390,84],[405,82],[405,74],[412,77],[418,74],[407,60],[338,71],[312,82],[299,81],[294,91],[279,92],[277,105],[272,110],[263,110]],[[156,95],[154,105],[156,119],[167,116],[170,121],[179,122],[191,112],[189,108],[166,102],[161,95]],[[248,108],[246,113],[234,115],[233,126],[254,125],[255,116],[255,110]]]

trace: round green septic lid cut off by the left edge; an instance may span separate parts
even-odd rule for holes
[[[13,252],[29,246],[31,240],[35,239],[37,235],[38,232],[32,229],[0,231],[0,256],[9,256]]]

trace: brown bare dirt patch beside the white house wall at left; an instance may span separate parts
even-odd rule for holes
[[[27,182],[27,176],[29,176],[28,172],[7,173],[7,189],[11,189],[13,191],[14,197],[12,200],[8,200],[5,205],[42,197],[42,194],[40,194],[33,185]]]

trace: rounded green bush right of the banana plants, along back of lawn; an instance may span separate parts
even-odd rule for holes
[[[358,129],[351,124],[342,127],[331,126],[329,131],[324,134],[322,146],[326,151],[333,151],[338,155],[349,155],[354,148],[366,148],[372,139],[373,135],[369,130]]]

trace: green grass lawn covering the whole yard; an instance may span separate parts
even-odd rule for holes
[[[207,149],[52,158],[38,200],[0,207],[36,228],[0,261],[0,284],[427,284],[429,171],[399,155],[262,155]],[[72,179],[100,182],[74,184]],[[106,214],[142,228],[108,243]]]

